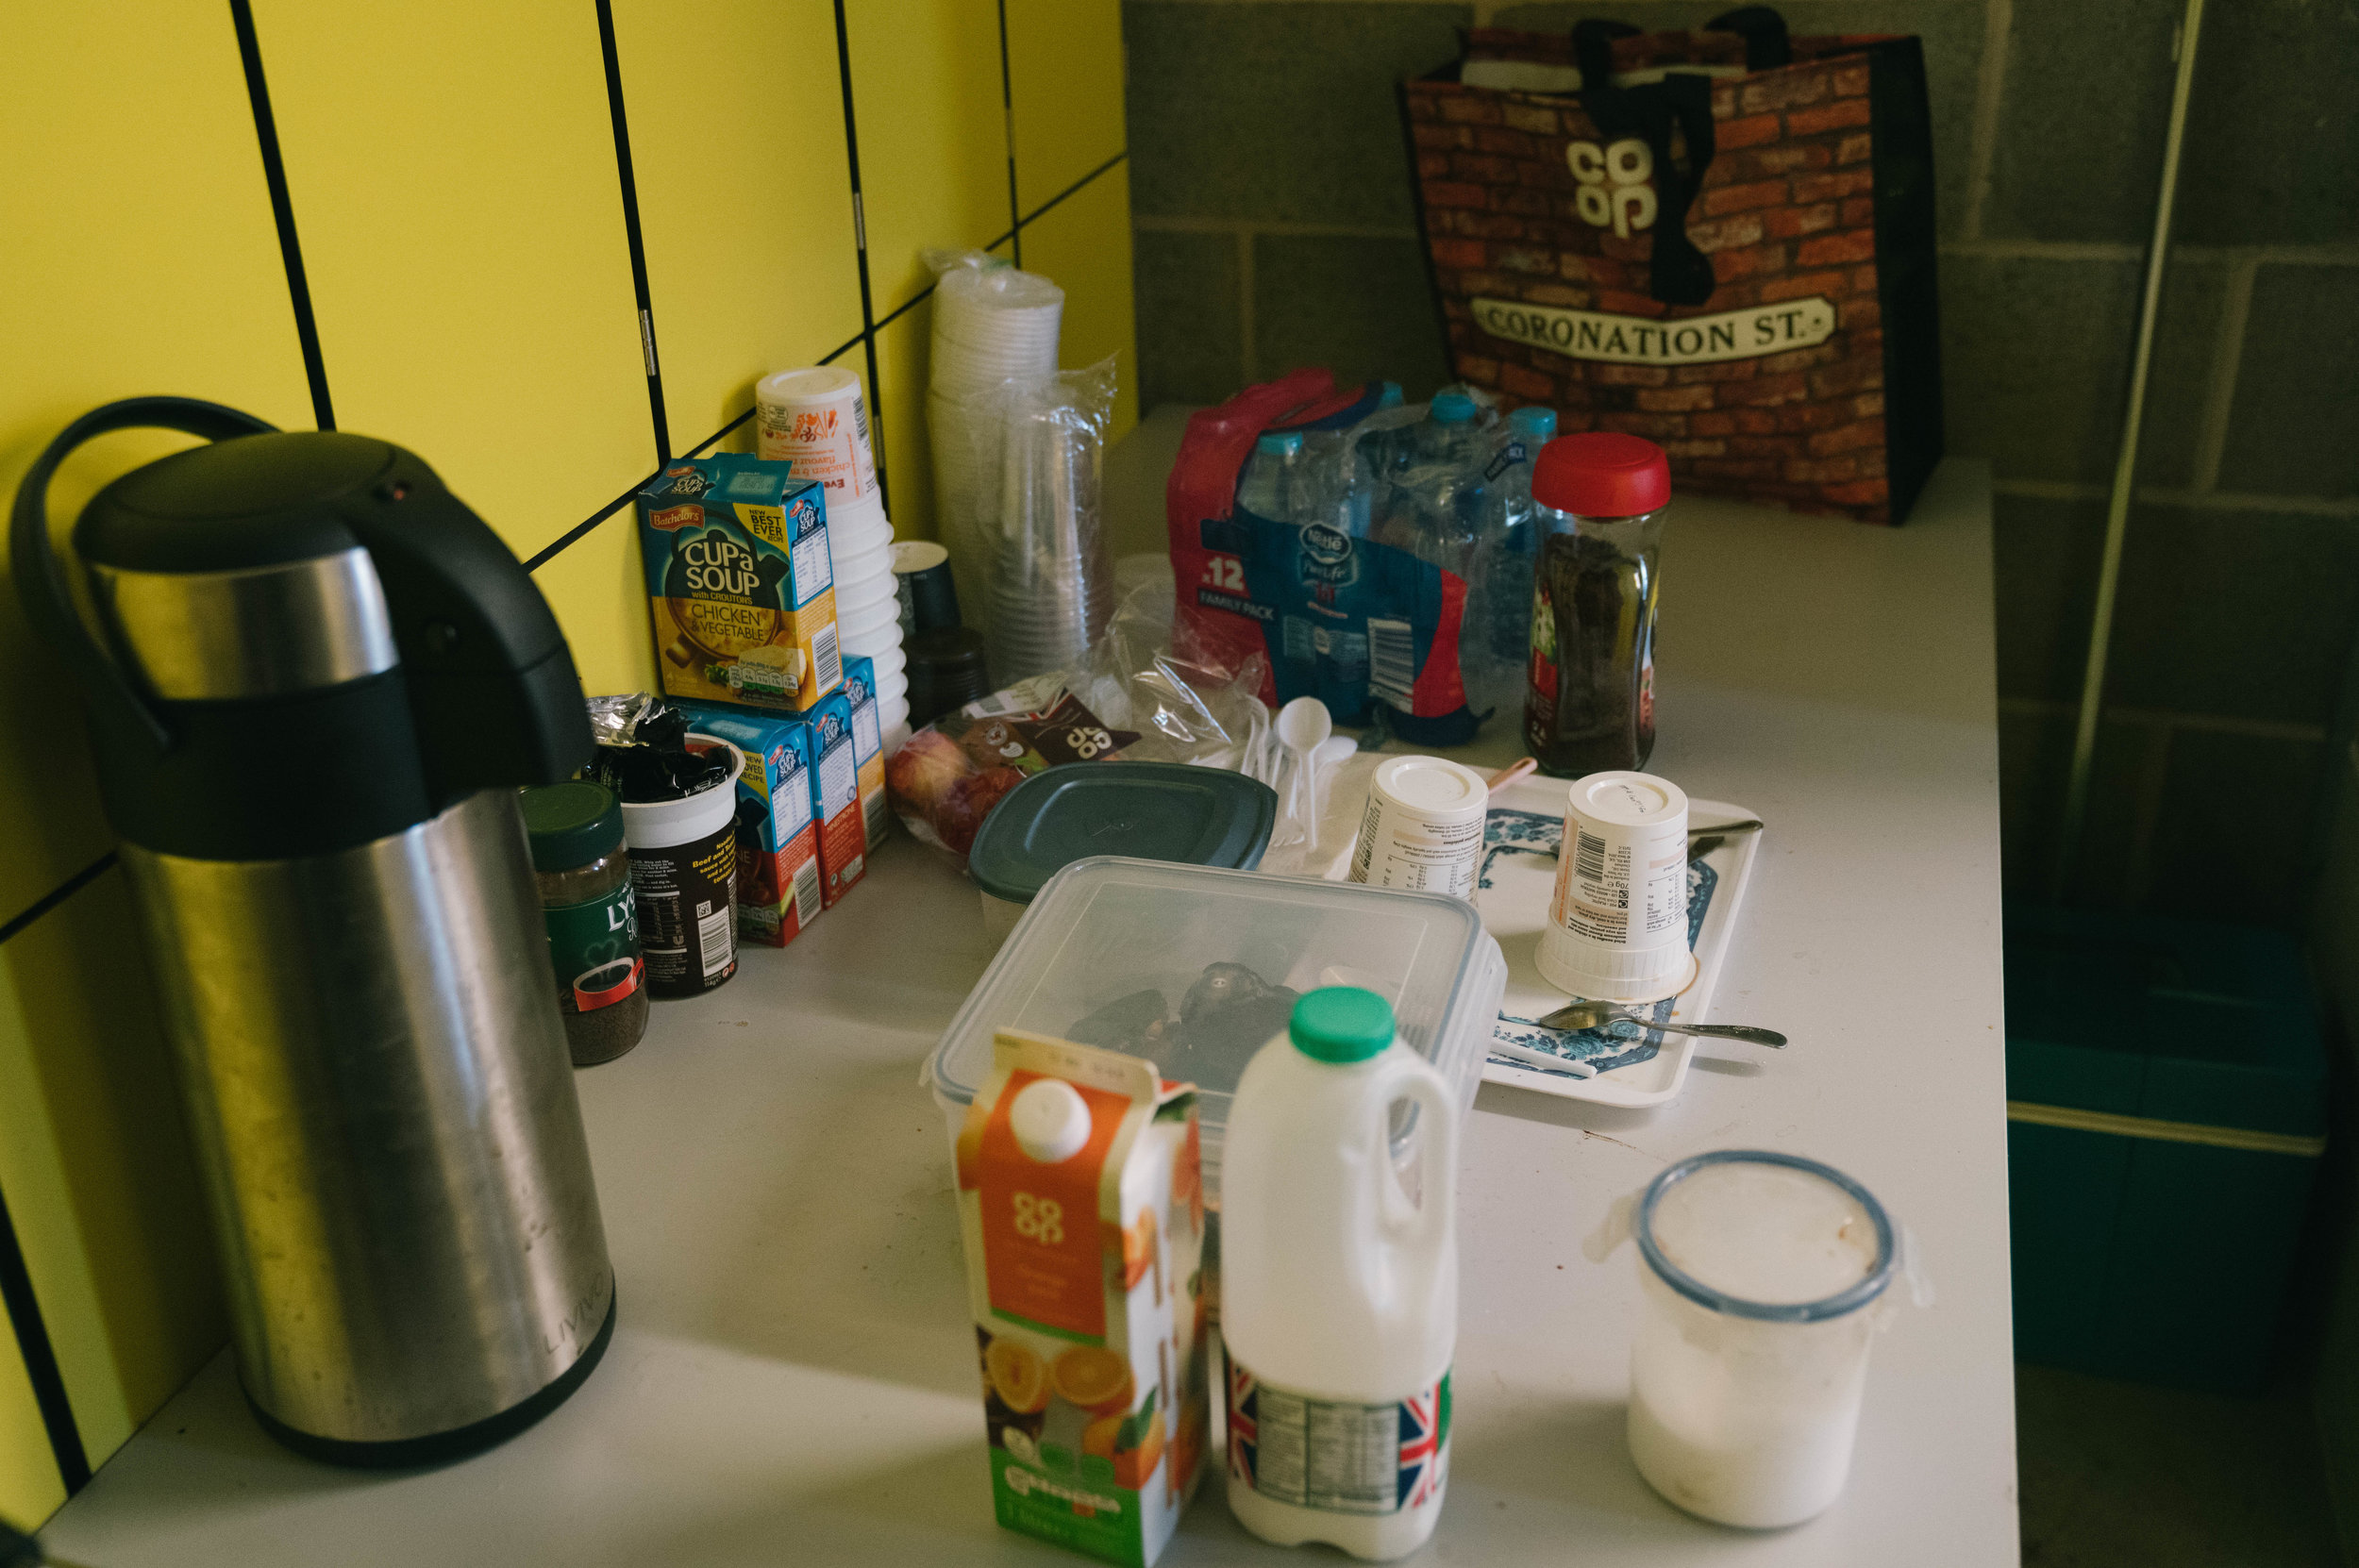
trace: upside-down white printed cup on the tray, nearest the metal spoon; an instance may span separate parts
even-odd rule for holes
[[[1687,792],[1654,773],[1590,773],[1564,802],[1540,979],[1597,1002],[1661,1002],[1687,953]]]

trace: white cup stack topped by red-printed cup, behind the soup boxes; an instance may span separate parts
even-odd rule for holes
[[[793,462],[797,479],[826,486],[837,646],[845,658],[875,660],[878,724],[889,731],[908,719],[908,660],[861,377],[842,365],[781,370],[755,387],[755,413],[762,457]]]

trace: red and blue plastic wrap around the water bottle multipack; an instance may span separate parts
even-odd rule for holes
[[[1338,722],[1366,724],[1382,705],[1404,740],[1463,745],[1481,722],[1458,665],[1467,580],[1364,531],[1293,526],[1238,502],[1262,431],[1302,431],[1319,460],[1380,406],[1380,384],[1338,387],[1328,370],[1295,370],[1189,415],[1165,488],[1180,589],[1172,641],[1180,658],[1213,670],[1260,658],[1272,707],[1319,698]]]

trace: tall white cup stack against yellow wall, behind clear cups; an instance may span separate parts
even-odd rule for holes
[[[958,601],[979,630],[995,613],[1000,446],[1007,384],[1057,375],[1064,290],[1029,271],[958,266],[934,290],[934,512]]]

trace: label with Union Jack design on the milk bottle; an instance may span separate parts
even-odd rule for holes
[[[1229,1474],[1272,1502],[1399,1514],[1448,1478],[1448,1372],[1404,1401],[1354,1405],[1272,1386],[1231,1358],[1227,1401]]]

